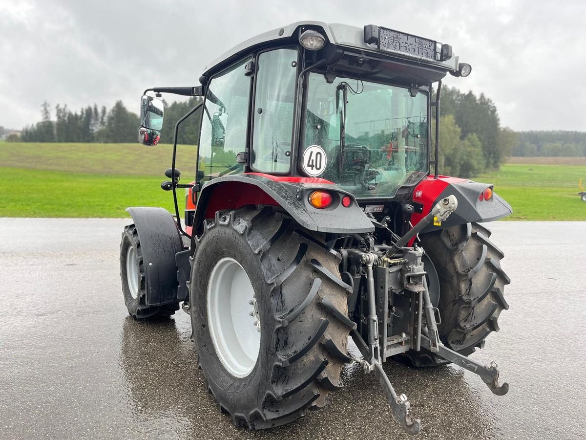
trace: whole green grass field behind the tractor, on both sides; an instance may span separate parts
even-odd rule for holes
[[[196,151],[178,148],[183,181],[193,178]],[[168,144],[0,143],[0,216],[122,217],[129,206],[171,209],[171,193],[159,186],[171,154]],[[508,219],[586,220],[586,203],[577,195],[586,163],[539,159],[545,163],[505,164],[475,180],[495,184],[515,211]]]

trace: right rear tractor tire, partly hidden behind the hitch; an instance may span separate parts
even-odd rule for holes
[[[499,331],[500,312],[509,308],[503,290],[510,280],[500,267],[504,254],[489,237],[489,229],[477,223],[421,235],[440,281],[440,339],[464,356],[484,347],[486,337]],[[396,360],[415,367],[448,363],[424,349],[408,351]]]

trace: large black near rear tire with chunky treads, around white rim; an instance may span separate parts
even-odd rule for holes
[[[217,212],[196,239],[189,290],[198,366],[220,410],[237,427],[276,427],[323,407],[328,393],[342,386],[342,366],[350,361],[347,341],[355,324],[347,317],[339,258],[321,236],[297,228],[272,209],[242,208]],[[216,346],[219,339],[210,329],[216,312],[207,304],[208,298],[213,302],[208,289],[216,285],[214,268],[231,260],[250,280],[261,327],[255,363],[250,373],[245,368],[237,375],[224,361],[229,344]],[[238,312],[226,306],[224,316],[245,324],[249,316],[252,325],[257,317],[248,307]]]

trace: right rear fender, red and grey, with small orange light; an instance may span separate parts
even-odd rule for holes
[[[420,208],[420,212],[416,211],[411,215],[411,224],[418,224],[438,201],[448,195],[455,195],[458,199],[456,211],[444,222],[432,222],[425,226],[422,233],[470,222],[491,222],[512,214],[510,205],[495,192],[489,200],[479,199],[482,191],[486,188],[492,189],[492,186],[456,177],[440,176],[434,179],[429,176],[413,192],[414,205]]]

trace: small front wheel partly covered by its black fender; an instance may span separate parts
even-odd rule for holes
[[[147,284],[141,243],[136,226],[129,225],[122,232],[120,243],[120,279],[128,314],[134,319],[158,319],[175,314],[179,303],[147,306]]]

